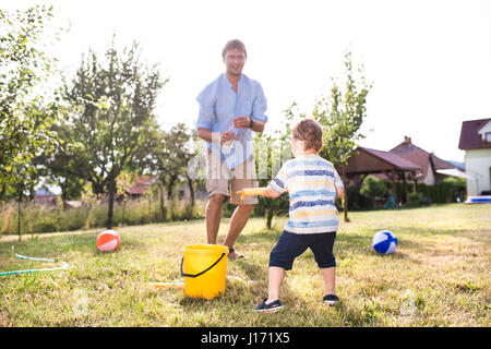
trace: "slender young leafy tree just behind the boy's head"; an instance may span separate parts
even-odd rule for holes
[[[350,51],[345,55],[345,91],[342,92],[333,80],[330,97],[319,99],[312,113],[314,119],[324,127],[324,147],[320,155],[336,168],[342,169],[339,174],[343,182],[347,183],[344,166],[355,154],[358,141],[364,137],[360,128],[367,117],[366,104],[371,85],[364,80],[362,65],[358,68],[360,80],[355,80]],[[345,195],[343,202],[345,221],[349,221],[347,200],[348,196]]]

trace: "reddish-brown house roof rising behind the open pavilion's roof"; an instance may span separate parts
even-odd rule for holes
[[[428,153],[427,151],[416,146],[412,144],[411,139],[406,136],[404,139],[404,142],[397,145],[396,147],[388,151],[391,154],[394,154],[405,160],[408,160],[415,165],[418,165],[422,169],[422,177],[427,177],[428,172],[428,165],[431,160],[434,170],[442,170],[442,169],[451,169],[455,168],[454,165],[451,163],[447,163],[445,160],[442,160],[433,153]]]

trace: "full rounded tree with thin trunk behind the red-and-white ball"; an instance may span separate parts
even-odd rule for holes
[[[148,146],[157,94],[168,82],[161,80],[157,65],[142,63],[140,51],[133,43],[120,53],[112,41],[99,61],[91,50],[65,87],[65,99],[75,108],[65,120],[69,140],[83,144],[75,155],[79,176],[92,183],[97,195],[108,192],[108,228],[116,178]]]

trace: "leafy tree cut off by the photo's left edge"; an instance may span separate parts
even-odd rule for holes
[[[32,159],[58,142],[50,125],[62,112],[59,91],[41,88],[55,71],[55,59],[43,50],[51,17],[46,7],[13,13],[0,9],[0,200],[11,191],[8,186],[16,188],[22,200],[36,178]]]

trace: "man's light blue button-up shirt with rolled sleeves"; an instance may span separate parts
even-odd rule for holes
[[[233,128],[232,119],[247,116],[267,122],[266,97],[261,84],[242,74],[236,94],[223,73],[200,93],[196,100],[200,104],[196,129],[220,133],[231,131],[237,135],[231,147],[206,142],[207,147],[219,155],[230,169],[246,161],[253,154],[252,130]]]

